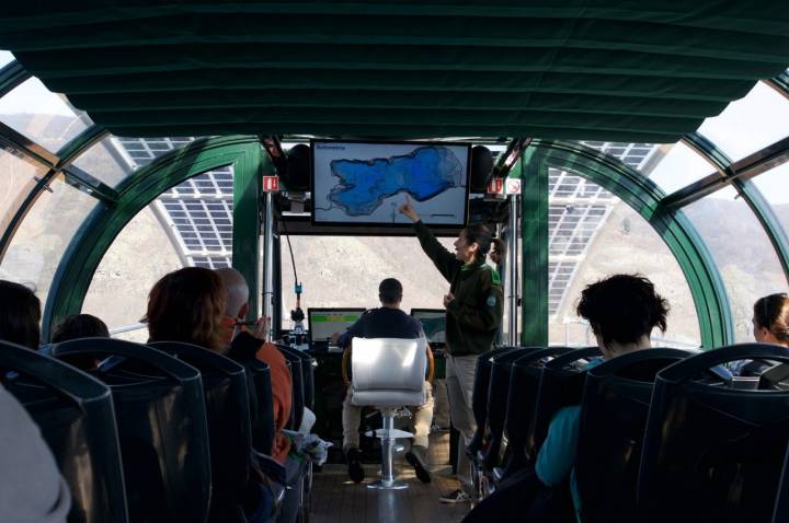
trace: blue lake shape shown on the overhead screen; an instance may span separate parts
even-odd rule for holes
[[[464,168],[446,147],[421,147],[411,154],[374,160],[334,160],[338,184],[329,199],[348,216],[369,214],[384,199],[408,193],[425,201],[462,184]]]

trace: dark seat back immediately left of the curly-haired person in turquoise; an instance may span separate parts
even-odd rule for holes
[[[601,356],[597,347],[575,349],[549,361],[542,368],[537,407],[526,440],[526,454],[537,457],[548,435],[548,427],[557,411],[569,405],[580,405],[586,379],[585,364]]]

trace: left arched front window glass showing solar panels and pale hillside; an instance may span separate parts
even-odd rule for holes
[[[102,317],[111,330],[138,323],[148,291],[183,266],[228,267],[232,255],[232,168],[198,174],[162,193],[115,239],[96,269],[83,312]],[[134,282],[134,284],[130,284]],[[105,311],[106,303],[122,306]],[[117,335],[145,341],[148,329]]]

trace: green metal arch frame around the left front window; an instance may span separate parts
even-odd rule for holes
[[[100,201],[66,249],[44,309],[42,339],[49,339],[52,326],[58,318],[80,312],[93,274],[115,237],[139,211],[170,187],[211,168],[232,165],[233,185],[241,181],[247,187],[245,190],[233,189],[235,198],[243,194],[245,204],[241,209],[235,206],[235,222],[239,213],[244,217],[240,223],[252,216],[252,225],[248,226],[259,229],[256,187],[260,184],[255,182],[266,163],[267,158],[256,137],[221,137],[176,149],[127,177],[117,187],[117,202],[108,206]],[[259,234],[254,234],[240,242],[233,232],[233,266],[250,282],[251,295],[258,292],[258,237]],[[256,301],[251,304],[253,302]]]

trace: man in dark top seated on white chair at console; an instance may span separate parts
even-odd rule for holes
[[[356,338],[402,338],[413,339],[424,337],[422,325],[400,310],[402,301],[402,284],[395,278],[387,278],[378,286],[378,298],[381,306],[370,309],[345,333],[334,334],[338,346],[346,348],[351,340]],[[424,405],[410,407],[414,412],[414,440],[405,460],[413,465],[416,477],[423,483],[430,483],[431,474],[427,469],[427,437],[433,420],[433,392],[430,383],[425,382]],[[362,418],[362,407],[351,403],[352,392],[348,388],[343,402],[343,452],[348,464],[348,476],[355,483],[364,479],[364,469],[359,463],[358,427]]]

